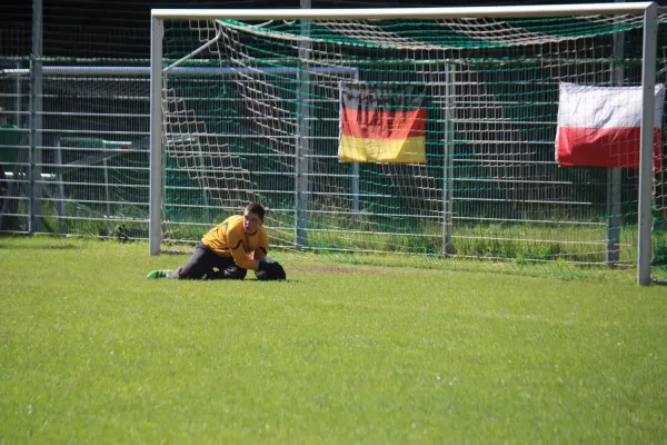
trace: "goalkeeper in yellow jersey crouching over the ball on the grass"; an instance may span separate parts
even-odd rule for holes
[[[257,279],[285,279],[282,266],[267,257],[269,237],[263,218],[263,207],[249,204],[242,216],[229,217],[203,235],[183,266],[152,270],[147,278],[243,279],[251,269]]]

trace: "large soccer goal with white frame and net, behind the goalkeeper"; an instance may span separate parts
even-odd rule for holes
[[[150,254],[258,201],[285,249],[647,285],[661,24],[649,2],[153,10]]]

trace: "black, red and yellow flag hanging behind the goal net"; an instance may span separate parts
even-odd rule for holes
[[[424,86],[340,83],[341,162],[426,164]]]

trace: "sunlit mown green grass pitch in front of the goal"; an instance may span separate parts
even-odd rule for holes
[[[665,443],[667,288],[276,256],[0,238],[0,443]]]

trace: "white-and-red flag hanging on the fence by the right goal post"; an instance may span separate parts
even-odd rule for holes
[[[654,170],[663,168],[665,87],[656,86]],[[561,166],[639,168],[641,87],[560,83],[556,160]]]

